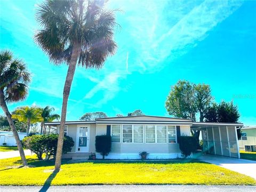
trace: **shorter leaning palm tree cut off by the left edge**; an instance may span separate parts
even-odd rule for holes
[[[22,164],[26,166],[27,160],[20,142],[19,134],[12,121],[12,117],[6,103],[25,100],[28,94],[30,73],[22,60],[13,58],[12,52],[1,51],[0,74],[0,106],[3,109],[11,127],[11,131],[13,132]]]

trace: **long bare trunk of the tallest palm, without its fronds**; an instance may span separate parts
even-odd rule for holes
[[[76,63],[77,63],[78,55],[80,54],[80,52],[81,52],[81,43],[74,42],[71,59],[70,59],[69,66],[68,66],[66,81],[65,81],[65,85],[64,85],[64,89],[63,89],[63,101],[62,101],[62,109],[61,109],[60,130],[59,130],[59,138],[58,138],[58,145],[57,145],[57,154],[56,154],[56,159],[55,159],[55,170],[56,171],[60,170],[68,97],[69,97],[71,84],[72,84],[73,77],[74,77],[75,70],[76,70]]]

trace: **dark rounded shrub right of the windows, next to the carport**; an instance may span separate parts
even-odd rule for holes
[[[197,149],[197,140],[191,136],[180,136],[179,137],[180,150],[185,158]]]

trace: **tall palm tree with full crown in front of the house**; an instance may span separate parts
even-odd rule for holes
[[[40,29],[36,43],[59,65],[67,63],[68,71],[63,88],[61,122],[55,170],[61,165],[67,103],[76,65],[99,69],[117,48],[114,41],[115,11],[104,10],[104,1],[47,0],[39,5],[36,18]]]

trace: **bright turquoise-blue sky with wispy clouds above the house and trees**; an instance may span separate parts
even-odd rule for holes
[[[22,58],[33,74],[18,106],[50,105],[60,114],[67,66],[54,66],[33,41],[41,1],[1,1],[1,50]],[[141,109],[169,116],[165,100],[179,79],[211,85],[215,101],[234,100],[240,121],[256,124],[256,1],[117,1],[118,50],[100,70],[78,67],[68,120],[89,111],[108,116]],[[2,114],[3,111],[0,110]]]

